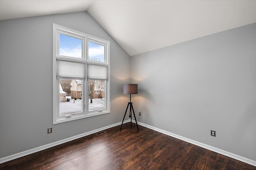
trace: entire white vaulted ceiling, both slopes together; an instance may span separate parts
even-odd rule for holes
[[[256,23],[256,0],[0,0],[0,20],[86,10],[130,56]]]

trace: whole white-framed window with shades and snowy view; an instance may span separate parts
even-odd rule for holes
[[[53,24],[53,124],[110,113],[110,42]]]

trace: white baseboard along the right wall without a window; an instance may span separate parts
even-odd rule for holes
[[[135,123],[134,120],[132,120],[132,121]],[[158,132],[160,132],[160,133],[164,133],[164,134],[166,134],[166,135],[168,135],[168,136],[175,137],[175,138],[180,139],[180,140],[182,140],[182,141],[186,141],[186,142],[191,143],[191,144],[194,144],[194,145],[196,145],[196,146],[198,146],[198,147],[202,147],[202,148],[204,148],[204,149],[212,150],[212,151],[217,152],[217,153],[219,153],[219,154],[223,154],[223,155],[228,156],[228,157],[230,157],[230,158],[234,158],[234,159],[236,159],[236,160],[240,160],[240,161],[242,161],[242,162],[244,162],[244,163],[247,163],[247,164],[250,164],[250,165],[252,165],[252,166],[256,166],[256,161],[250,160],[250,159],[248,159],[248,158],[244,158],[243,156],[239,156],[239,155],[237,155],[237,154],[233,154],[233,153],[227,152],[227,151],[225,151],[225,150],[221,150],[221,149],[212,147],[212,146],[210,146],[210,145],[206,145],[206,144],[204,144],[204,143],[200,143],[200,142],[198,142],[198,141],[194,141],[194,140],[188,139],[188,138],[186,138],[186,137],[182,137],[182,136],[180,136],[180,135],[176,135],[176,134],[174,134],[174,133],[171,133],[171,132],[168,132],[168,131],[164,131],[164,130],[162,130],[162,129],[158,129],[158,128],[156,128],[156,127],[153,127],[153,126],[150,126],[150,125],[146,125],[146,124],[141,123],[141,122],[138,122],[138,121],[137,121],[137,123],[138,123],[138,125],[147,127],[147,128],[149,128],[149,129],[152,129],[152,130],[154,130],[154,131],[158,131]]]

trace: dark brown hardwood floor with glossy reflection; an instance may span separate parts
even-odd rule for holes
[[[134,124],[0,164],[1,170],[256,170],[255,166]]]

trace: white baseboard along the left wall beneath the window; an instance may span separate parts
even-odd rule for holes
[[[129,119],[124,121],[124,123],[128,123],[128,122],[130,122]],[[73,141],[75,139],[79,139],[81,137],[85,137],[85,136],[88,136],[88,135],[91,135],[93,133],[97,133],[97,132],[103,131],[103,130],[111,128],[111,127],[115,127],[115,126],[121,125],[121,123],[122,122],[115,123],[115,124],[112,124],[112,125],[109,125],[109,126],[105,126],[105,127],[99,128],[99,129],[95,129],[95,130],[90,131],[90,132],[82,133],[80,135],[76,135],[76,136],[73,136],[73,137],[69,137],[67,139],[56,141],[54,143],[49,143],[49,144],[43,145],[41,147],[37,147],[37,148],[34,148],[34,149],[30,149],[30,150],[26,150],[26,151],[23,151],[23,152],[20,152],[20,153],[13,154],[13,155],[10,155],[10,156],[6,156],[4,158],[0,158],[0,164],[2,164],[4,162],[8,162],[10,160],[14,160],[16,158],[20,158],[22,156],[26,156],[26,155],[29,155],[29,154],[32,154],[32,153],[35,153],[35,152],[39,152],[39,151],[44,150],[44,149],[55,147],[57,145],[60,145],[60,144],[63,144],[63,143],[69,142],[69,141]]]

